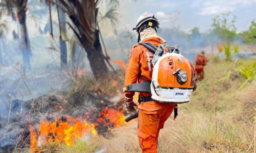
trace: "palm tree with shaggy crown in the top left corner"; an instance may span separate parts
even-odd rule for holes
[[[1,0],[0,5],[2,6],[2,9],[7,9],[8,14],[11,14],[12,16],[14,16],[14,10],[16,11],[16,18],[19,21],[20,28],[20,49],[23,55],[23,68],[24,72],[28,72],[31,69],[31,49],[26,25],[28,0]]]

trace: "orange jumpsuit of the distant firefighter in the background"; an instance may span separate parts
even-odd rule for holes
[[[207,64],[207,59],[204,55],[198,54],[195,58],[195,77],[198,78],[200,75],[199,80],[204,79],[204,66]]]

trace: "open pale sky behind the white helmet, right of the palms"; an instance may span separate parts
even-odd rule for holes
[[[256,0],[123,0],[120,6],[120,24],[132,29],[144,12],[155,14],[161,27],[175,24],[189,33],[193,27],[207,32],[216,15],[230,12],[237,16],[237,31],[245,31],[256,20]],[[176,14],[175,21],[170,15]],[[174,23],[175,22],[175,23]]]

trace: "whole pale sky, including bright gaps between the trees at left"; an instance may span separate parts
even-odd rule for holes
[[[47,6],[33,6],[33,0],[29,0],[27,14],[27,26],[30,37],[38,36],[38,26],[45,26],[48,18]],[[36,19],[30,14],[34,9],[46,10],[46,15]],[[100,8],[100,10],[104,10]],[[117,28],[120,30],[135,27],[137,18],[144,12],[155,14],[160,21],[161,27],[179,27],[182,31],[189,33],[194,27],[199,27],[200,32],[206,33],[211,28],[212,18],[216,15],[230,12],[237,16],[237,31],[246,31],[252,20],[256,20],[256,0],[120,0],[119,22]],[[174,14],[174,15],[173,15]],[[52,18],[57,21],[56,11],[52,11]],[[172,18],[172,19],[170,19]],[[9,23],[9,30],[6,34],[8,40],[12,39],[12,30],[17,24],[9,16],[2,18]],[[109,29],[107,25],[105,29]],[[113,31],[104,30],[109,36]],[[136,32],[133,31],[135,34]]]

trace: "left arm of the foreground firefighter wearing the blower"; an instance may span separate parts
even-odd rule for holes
[[[131,50],[128,66],[126,68],[125,87],[136,83],[138,80],[140,73],[140,55],[141,51],[135,46]],[[125,96],[125,101],[131,102],[133,100],[134,92],[126,92]]]

